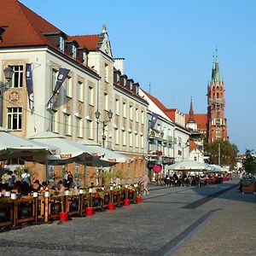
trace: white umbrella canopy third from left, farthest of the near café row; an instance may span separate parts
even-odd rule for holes
[[[116,163],[131,163],[132,161],[132,158],[127,157],[125,154],[120,154],[108,148],[102,148],[100,145],[89,140],[82,140],[78,143],[90,148],[90,152],[94,155],[101,155],[100,159],[91,161],[91,166],[113,166]]]

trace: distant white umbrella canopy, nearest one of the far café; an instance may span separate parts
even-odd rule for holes
[[[168,166],[167,169],[174,171],[207,171],[210,168],[205,163],[196,162],[193,160],[183,160],[177,162],[171,166]]]

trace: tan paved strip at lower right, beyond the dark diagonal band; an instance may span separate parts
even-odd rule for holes
[[[221,209],[173,255],[256,255],[256,195],[235,188],[201,208],[216,201]]]

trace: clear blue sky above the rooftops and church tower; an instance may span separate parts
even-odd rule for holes
[[[207,113],[207,82],[218,48],[230,143],[256,151],[256,1],[20,0],[68,35],[107,25],[113,57],[166,108]],[[149,86],[150,84],[150,86]]]

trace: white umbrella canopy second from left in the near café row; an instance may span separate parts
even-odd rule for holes
[[[73,161],[84,163],[87,158],[90,159],[93,156],[93,152],[90,148],[50,131],[38,133],[30,139],[32,142],[56,148],[51,151],[53,155],[48,157],[49,165],[65,165],[67,163],[72,163]]]

